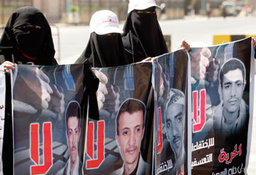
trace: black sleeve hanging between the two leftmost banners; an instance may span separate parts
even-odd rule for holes
[[[89,95],[89,117],[93,120],[99,120],[99,108],[97,103],[96,92],[99,87],[99,79],[91,70],[89,61],[84,62],[84,85],[86,85],[86,94]]]

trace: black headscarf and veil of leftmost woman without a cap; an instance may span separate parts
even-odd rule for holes
[[[39,26],[22,28],[21,26]],[[21,27],[21,28],[20,28]],[[0,40],[0,63],[56,65],[50,26],[34,7],[21,7],[10,16]]]

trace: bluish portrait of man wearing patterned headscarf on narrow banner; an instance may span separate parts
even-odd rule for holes
[[[181,171],[186,156],[183,144],[185,98],[184,93],[177,89],[170,89],[168,95],[165,104],[165,128],[176,157],[176,166],[173,169]]]

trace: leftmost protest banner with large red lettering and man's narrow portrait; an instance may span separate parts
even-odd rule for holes
[[[81,174],[89,89],[86,83],[93,78],[89,71],[83,64],[15,66],[15,174],[65,174],[71,170]]]

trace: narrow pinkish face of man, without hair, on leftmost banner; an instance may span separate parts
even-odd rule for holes
[[[69,155],[72,163],[78,156],[78,141],[80,136],[79,119],[76,116],[69,117],[67,120],[67,143]]]

